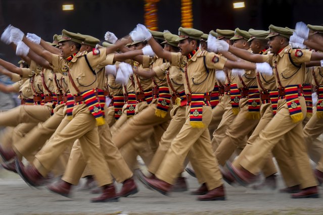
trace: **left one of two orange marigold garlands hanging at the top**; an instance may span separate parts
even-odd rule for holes
[[[145,1],[145,25],[153,31],[158,31],[157,3],[159,0]]]

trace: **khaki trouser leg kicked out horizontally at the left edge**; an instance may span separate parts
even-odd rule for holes
[[[48,105],[19,105],[0,113],[0,126],[17,126],[20,123],[39,123],[51,117],[52,108]]]

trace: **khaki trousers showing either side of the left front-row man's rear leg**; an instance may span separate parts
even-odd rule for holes
[[[111,141],[109,125],[105,124],[98,127],[101,150],[105,156],[106,163],[115,180],[119,183],[132,177],[132,172],[129,170],[118,148]],[[84,172],[86,162],[83,158],[80,141],[76,141],[73,145],[70,159],[67,164],[66,172],[62,177],[63,181],[77,185],[79,179]]]

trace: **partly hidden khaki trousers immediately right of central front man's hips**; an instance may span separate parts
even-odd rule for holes
[[[225,137],[226,129],[233,122],[236,115],[232,111],[232,105],[230,104],[230,95],[223,95],[220,101],[220,106],[218,109],[221,110],[221,106],[224,106],[224,113],[222,114],[221,122],[218,127],[213,132],[213,138],[211,140],[213,151],[219,146],[221,140]],[[217,109],[217,107],[215,107]],[[213,112],[212,112],[213,114]],[[213,116],[212,116],[213,117]]]

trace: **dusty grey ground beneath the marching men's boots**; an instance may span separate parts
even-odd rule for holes
[[[187,177],[190,190],[196,189],[196,179]],[[226,201],[200,202],[189,191],[166,197],[137,184],[140,192],[132,197],[90,203],[96,195],[74,189],[73,199],[68,199],[45,187],[32,189],[17,175],[0,170],[0,214],[323,214],[322,198],[291,199],[277,190],[253,191],[225,184]],[[281,180],[279,186],[283,187]]]

